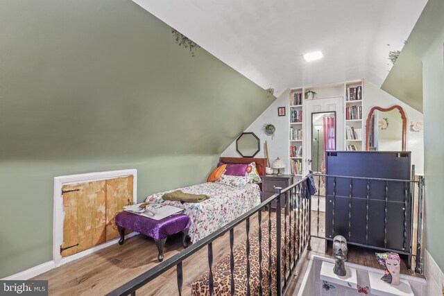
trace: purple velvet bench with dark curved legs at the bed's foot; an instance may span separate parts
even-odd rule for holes
[[[129,213],[128,211],[122,211],[116,216],[116,225],[120,234],[119,245],[122,245],[125,241],[125,229],[150,236],[154,238],[157,250],[159,250],[157,259],[159,259],[160,262],[164,259],[164,245],[168,236],[182,232],[182,243],[184,247],[187,247],[185,238],[187,237],[190,223],[189,216],[185,214],[176,214],[161,220],[154,220],[145,216]]]

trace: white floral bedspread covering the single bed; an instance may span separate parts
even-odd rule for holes
[[[191,243],[196,243],[261,202],[261,191],[257,184],[228,186],[207,182],[180,188],[184,193],[208,195],[210,198],[203,202],[182,204],[182,202],[162,200],[164,193],[174,190],[149,195],[145,202],[168,204],[185,209],[185,214],[191,218],[191,226],[189,227]]]

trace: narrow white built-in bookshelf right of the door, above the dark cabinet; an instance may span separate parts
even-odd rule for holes
[[[364,87],[362,80],[345,82],[345,150],[362,150],[362,101]]]

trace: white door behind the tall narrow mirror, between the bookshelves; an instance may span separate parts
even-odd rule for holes
[[[305,116],[303,116],[304,121],[304,143],[305,143],[305,174],[309,173],[309,171],[316,171],[314,169],[313,164],[320,164],[322,162],[322,157],[316,157],[316,149],[322,149],[323,151],[323,129],[320,127],[317,132],[316,126],[322,125],[322,116],[323,112],[336,112],[335,114],[335,139],[336,139],[336,150],[343,150],[344,146],[344,116],[343,116],[343,97],[333,97],[333,98],[318,98],[315,100],[306,100],[304,101],[305,106]],[[316,121],[315,128],[312,125],[312,119]],[[321,120],[321,121],[319,121]],[[321,123],[320,123],[321,122]],[[320,143],[320,139],[322,140]],[[314,145],[318,145],[318,148]],[[312,151],[312,147],[315,148]],[[321,155],[321,154],[320,154]],[[317,158],[317,159],[316,159]],[[313,168],[313,169],[312,169]],[[318,201],[317,195],[313,196],[311,200],[311,210],[317,211],[319,204],[319,211],[325,211],[325,184],[322,182],[323,178],[321,178],[321,182],[318,182],[318,179],[315,178],[316,188],[321,186],[319,189],[321,198]]]

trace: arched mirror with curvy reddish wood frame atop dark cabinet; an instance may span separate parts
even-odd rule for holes
[[[401,106],[373,107],[366,123],[366,150],[406,150],[407,117]]]

